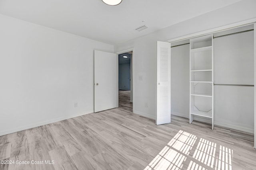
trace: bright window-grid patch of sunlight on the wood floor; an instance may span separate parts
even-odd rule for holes
[[[232,149],[180,130],[144,170],[232,170],[232,156]]]

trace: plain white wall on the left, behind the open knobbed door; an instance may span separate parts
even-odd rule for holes
[[[3,15],[0,23],[0,136],[93,112],[94,49],[112,45]]]

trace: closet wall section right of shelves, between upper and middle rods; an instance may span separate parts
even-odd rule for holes
[[[254,84],[253,31],[214,38],[215,84]]]

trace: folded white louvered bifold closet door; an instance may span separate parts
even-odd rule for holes
[[[171,44],[157,41],[156,125],[171,122]]]

